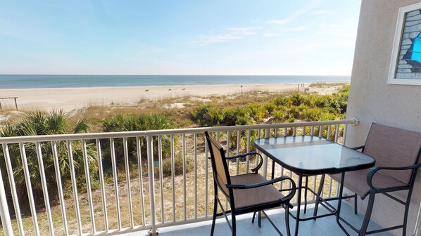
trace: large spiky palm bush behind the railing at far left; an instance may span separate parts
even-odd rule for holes
[[[81,119],[75,125],[70,126],[68,122],[69,117],[62,110],[42,112],[30,112],[27,116],[13,124],[6,124],[0,131],[1,137],[15,137],[15,136],[40,136],[40,135],[54,135],[65,133],[85,133],[88,131],[87,121]],[[30,183],[34,201],[42,204],[44,195],[42,195],[42,178],[40,176],[39,159],[41,157],[46,186],[49,188],[49,198],[53,201],[57,199],[57,179],[56,179],[56,164],[63,181],[70,179],[70,162],[69,150],[73,155],[73,162],[75,166],[75,174],[78,176],[77,183],[82,185],[84,181],[84,162],[82,143],[80,141],[55,141],[55,142],[40,142],[40,143],[22,143],[22,150],[18,144],[8,145],[8,157],[4,156],[4,151],[0,152],[0,166],[2,173],[6,172],[6,162],[11,162],[13,168],[13,175],[15,181],[15,189],[18,193],[20,201],[27,203],[28,192],[25,178],[25,168],[30,173]],[[71,149],[69,148],[71,146]],[[23,155],[26,158],[21,158]],[[97,171],[98,164],[96,161],[96,150],[94,144],[87,144],[87,163],[89,171]],[[9,186],[8,178],[3,176],[5,185]],[[10,189],[7,192],[8,197],[11,197]]]

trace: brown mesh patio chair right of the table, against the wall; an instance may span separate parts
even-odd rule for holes
[[[365,197],[369,197],[369,199],[360,230],[348,222],[344,222],[353,230],[359,232],[359,235],[369,235],[398,228],[402,228],[402,235],[406,235],[410,198],[417,169],[421,167],[418,164],[421,153],[421,133],[373,123],[365,140],[365,145],[354,149],[362,150],[365,154],[374,157],[376,166],[372,169],[345,173],[344,187],[360,196],[361,199],[365,199]],[[331,175],[331,177],[340,183],[340,174]],[[391,192],[403,190],[408,191],[406,200],[398,199],[398,197],[390,194]],[[381,230],[367,231],[375,196],[379,193],[405,206],[403,224]],[[356,195],[348,197],[355,197],[356,201]],[[318,202],[316,202],[317,204]],[[357,214],[356,209],[355,214]]]

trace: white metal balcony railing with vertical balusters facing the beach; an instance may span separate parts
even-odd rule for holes
[[[3,230],[5,235],[107,235],[147,229],[154,234],[163,226],[206,220],[212,212],[213,180],[204,131],[214,133],[230,156],[250,152],[254,139],[271,136],[307,134],[344,143],[348,124],[358,124],[358,120],[0,138],[6,167],[0,170],[6,171],[0,172]],[[61,146],[58,150],[59,143],[65,144],[67,152]],[[35,152],[27,153],[31,145]],[[51,176],[46,176],[45,171],[52,166],[44,162],[47,153],[43,152],[43,145],[51,145],[48,155],[54,159],[56,185],[49,184],[51,179],[47,180]],[[77,147],[82,153],[75,152]],[[118,154],[119,150],[122,155]],[[89,169],[92,163],[88,157],[92,152],[98,165],[96,171]],[[81,155],[82,162],[75,161],[75,153]],[[36,171],[28,168],[28,159],[31,164],[37,162]],[[271,172],[268,162],[271,160],[265,157],[264,176]],[[61,176],[61,168],[67,164],[70,173]],[[237,159],[229,165],[232,173],[244,173],[254,165],[253,157]],[[76,166],[80,168],[78,173]],[[23,169],[27,197],[16,189],[16,169]],[[280,166],[275,172],[294,176]],[[32,190],[33,180],[38,176],[42,197],[34,196],[36,192]],[[308,184],[316,189],[318,176],[310,179]],[[78,190],[82,183],[86,190]],[[325,195],[337,194],[336,182],[329,179],[325,184]],[[55,200],[51,199],[52,195]],[[10,204],[8,199],[11,199]],[[309,201],[312,199],[313,196]],[[225,204],[227,206],[227,202]],[[46,218],[43,221],[46,223],[40,224],[40,217]],[[89,221],[84,221],[87,218]]]

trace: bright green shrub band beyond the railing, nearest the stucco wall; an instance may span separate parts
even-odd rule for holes
[[[348,86],[344,86],[332,95],[293,93],[235,107],[206,104],[192,110],[190,118],[198,126],[342,119],[346,113],[348,93]]]

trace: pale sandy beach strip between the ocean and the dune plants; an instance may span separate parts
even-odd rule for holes
[[[19,110],[63,109],[65,112],[89,105],[134,105],[139,101],[163,100],[185,96],[231,95],[251,91],[304,91],[310,84],[245,84],[92,87],[61,89],[0,89],[0,97],[18,97]],[[332,93],[337,86],[310,87],[310,92]],[[2,107],[14,108],[13,99],[0,100]]]

